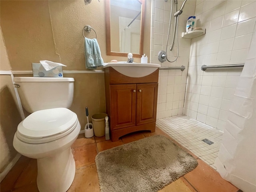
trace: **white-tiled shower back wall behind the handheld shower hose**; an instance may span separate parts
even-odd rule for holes
[[[178,1],[178,9],[182,2],[183,0]],[[186,70],[183,72],[181,70],[160,70],[157,107],[157,118],[159,119],[182,114],[183,112],[191,40],[181,38],[181,34],[186,31],[188,16],[194,15],[195,6],[195,0],[187,1],[183,13],[179,18],[178,39],[180,53],[177,61],[172,63],[165,61],[161,63],[158,61],[158,52],[160,50],[166,50],[171,1],[168,0],[165,2],[164,0],[152,0],[150,62],[161,64],[162,66],[186,66]],[[173,24],[174,18],[172,18],[171,34],[173,34]],[[170,45],[170,39],[172,39],[172,36],[169,37],[168,45]],[[170,46],[168,46],[167,50],[170,50]],[[167,51],[168,59],[174,60],[176,54],[177,44],[175,41],[175,46],[172,52]]]

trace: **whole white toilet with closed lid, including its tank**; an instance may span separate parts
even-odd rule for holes
[[[31,114],[18,125],[13,146],[37,159],[40,192],[66,192],[75,176],[70,146],[80,132],[77,115],[69,110],[74,78],[14,77],[23,108]]]

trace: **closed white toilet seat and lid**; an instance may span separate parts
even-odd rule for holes
[[[27,143],[45,143],[66,136],[77,125],[76,114],[67,108],[40,110],[20,122],[16,136]]]

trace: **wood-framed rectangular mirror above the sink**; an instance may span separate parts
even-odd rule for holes
[[[107,55],[143,54],[145,0],[106,0]]]

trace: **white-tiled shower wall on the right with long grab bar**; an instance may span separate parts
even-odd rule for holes
[[[206,34],[191,41],[183,114],[223,130],[242,69],[200,68],[245,62],[255,30],[256,1],[197,0],[195,16]]]

